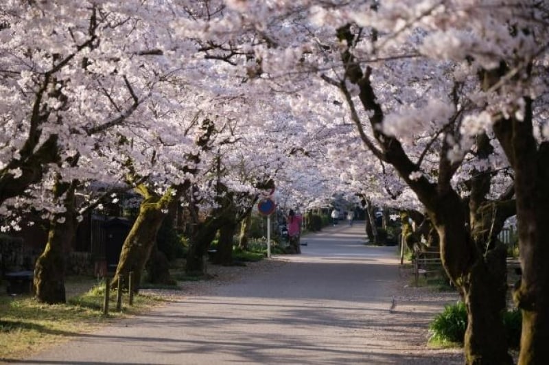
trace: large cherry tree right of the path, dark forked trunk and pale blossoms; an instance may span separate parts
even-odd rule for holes
[[[467,361],[511,362],[504,339],[493,335],[494,329],[501,333],[497,329],[502,328],[499,313],[504,308],[505,290],[504,252],[493,233],[513,211],[513,201],[509,200],[513,189],[500,191],[499,197],[490,189],[491,169],[500,168],[498,158],[491,157],[497,156],[493,148],[498,146],[489,139],[489,128],[478,128],[482,119],[475,115],[483,116],[482,102],[497,104],[501,100],[479,95],[476,78],[479,69],[491,71],[494,65],[496,69],[500,65],[500,60],[494,62],[489,57],[490,52],[486,55],[492,39],[480,38],[485,34],[494,37],[495,29],[507,29],[510,14],[533,19],[534,23],[537,15],[527,15],[526,7],[519,3],[502,7],[504,11],[495,16],[498,21],[491,23],[478,16],[485,15],[484,10],[477,13],[474,5],[465,1],[319,1],[310,7],[313,3],[228,1],[230,9],[225,10],[222,20],[198,24],[197,28],[214,39],[215,45],[231,44],[230,51],[227,47],[212,47],[218,51],[216,57],[246,67],[256,79],[270,78],[280,83],[284,76],[294,76],[295,83],[303,81],[303,73],[312,70],[342,92],[362,142],[377,158],[395,167],[439,231],[445,268],[460,286],[469,308]],[[482,3],[486,8],[480,8],[491,8],[493,3],[498,2]],[[531,5],[530,10],[539,7]],[[302,10],[309,11],[310,17]],[[478,24],[474,25],[480,25],[477,28],[484,33],[476,34],[478,29],[468,25],[465,14],[467,19],[471,14],[478,16],[474,18]],[[193,25],[185,27],[185,32]],[[487,32],[489,27],[494,29]],[[242,43],[237,47],[235,33],[240,30],[248,36],[238,39]],[[496,37],[500,38],[511,40],[509,36]],[[452,48],[460,43],[467,47]],[[528,49],[528,43],[522,35],[511,42],[519,49]],[[239,58],[250,47],[254,55]],[[470,55],[464,51],[469,48]],[[456,62],[458,56],[464,61]],[[318,97],[318,89],[311,88],[313,82],[307,81],[302,95],[321,108],[326,98]],[[371,128],[366,128],[368,124]],[[412,142],[399,134],[404,126],[417,130]],[[417,139],[423,139],[419,147],[425,152],[410,150]],[[428,161],[427,152],[437,157],[434,163]],[[469,156],[478,164],[469,169],[472,176],[462,180],[465,189],[458,189],[454,176]],[[434,170],[429,165],[434,165]],[[469,198],[463,199],[460,193],[469,194]],[[486,229],[485,217],[498,222],[493,224],[495,229]],[[486,288],[492,290],[492,300],[482,303],[480,292],[485,293]]]

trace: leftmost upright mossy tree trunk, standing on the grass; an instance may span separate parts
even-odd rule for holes
[[[67,253],[75,239],[77,216],[74,193],[78,182],[54,185],[54,196],[64,196],[66,211],[58,213],[49,222],[49,233],[44,252],[34,266],[35,298],[41,303],[65,303],[65,268]]]

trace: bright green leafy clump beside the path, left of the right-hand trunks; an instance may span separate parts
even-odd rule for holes
[[[463,344],[467,328],[467,308],[462,302],[446,305],[429,325],[429,342]]]

